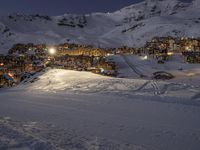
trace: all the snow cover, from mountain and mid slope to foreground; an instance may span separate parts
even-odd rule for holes
[[[57,25],[63,17],[76,18],[77,24],[80,15],[50,20],[0,17],[1,53],[16,42],[54,44],[70,39],[117,47],[141,46],[158,35],[199,36],[199,24],[194,23],[198,0],[195,5],[149,1],[109,14],[87,14],[83,28]],[[155,6],[161,13],[150,13]],[[10,30],[3,33],[6,27]],[[200,65],[184,63],[180,54],[162,65],[144,57],[110,56],[117,64],[117,78],[47,68],[16,87],[1,89],[0,149],[199,150]],[[154,80],[157,71],[175,78]]]

